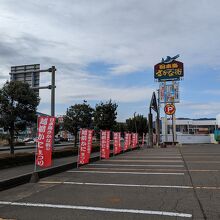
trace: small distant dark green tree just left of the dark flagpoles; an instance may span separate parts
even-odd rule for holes
[[[136,132],[139,135],[143,133],[147,133],[148,126],[147,126],[147,118],[143,115],[136,115],[133,118],[129,118],[126,120],[127,130],[131,132]]]

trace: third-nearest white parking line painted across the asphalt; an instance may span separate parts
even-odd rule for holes
[[[70,170],[67,173],[98,173],[98,174],[130,174],[130,175],[180,175],[184,176],[184,173],[143,173],[143,172],[103,172],[103,171],[84,171],[84,170]]]

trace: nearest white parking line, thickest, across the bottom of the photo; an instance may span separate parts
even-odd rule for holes
[[[55,209],[74,209],[74,210],[131,213],[131,214],[144,214],[144,215],[160,215],[160,216],[173,216],[173,217],[183,217],[183,218],[184,217],[185,218],[192,217],[192,214],[178,213],[178,212],[150,211],[150,210],[141,210],[141,209],[117,209],[117,208],[103,208],[103,207],[91,207],[91,206],[59,205],[59,204],[48,204],[48,203],[0,201],[0,205],[55,208]]]

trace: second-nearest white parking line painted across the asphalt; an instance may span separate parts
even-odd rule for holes
[[[86,185],[86,186],[117,186],[117,187],[143,187],[143,188],[174,188],[174,189],[193,189],[192,186],[169,186],[169,185],[139,185],[121,183],[82,183],[68,181],[41,181],[42,184],[67,184],[67,185]]]

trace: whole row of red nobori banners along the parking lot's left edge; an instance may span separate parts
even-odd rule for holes
[[[38,117],[38,141],[36,151],[36,165],[40,167],[50,167],[52,164],[52,143],[54,137],[55,117],[40,116]],[[78,164],[89,163],[89,158],[92,150],[93,130],[80,130],[80,146],[78,155]],[[142,146],[144,145],[144,134]],[[119,154],[122,151],[121,133],[113,132],[113,153]],[[136,148],[138,145],[138,134],[125,132],[124,149]],[[110,131],[102,130],[100,132],[100,157],[108,159],[110,157]]]

